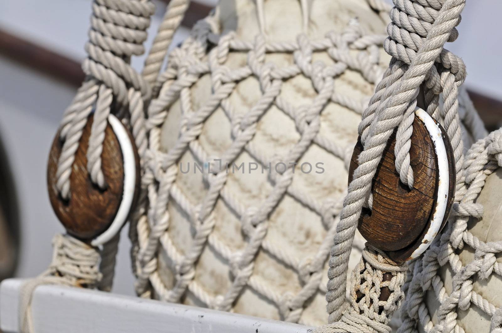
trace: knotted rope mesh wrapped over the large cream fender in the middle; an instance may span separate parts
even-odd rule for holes
[[[258,6],[257,10],[260,13]],[[287,165],[298,161],[311,145],[318,144],[344,161],[348,167],[353,145],[338,147],[319,132],[321,112],[327,103],[337,103],[355,113],[362,113],[367,100],[341,94],[335,89],[334,78],[347,70],[353,70],[369,83],[378,82],[383,75],[379,65],[379,46],[383,45],[385,36],[365,34],[356,22],[352,22],[343,31],[330,32],[319,40],[311,40],[302,34],[294,41],[276,42],[259,35],[254,42],[248,42],[248,39],[238,39],[232,32],[219,35],[217,11],[218,9],[214,15],[197,23],[190,37],[171,52],[168,67],[158,79],[162,89],[159,89],[158,95],[148,107],[149,148],[143,182],[147,188],[149,207],[137,220],[137,224],[131,225],[136,292],[143,297],[178,302],[185,292],[190,291],[208,307],[231,310],[244,288],[251,288],[274,304],[283,320],[298,322],[301,321],[307,300],[316,293],[326,292],[321,281],[322,271],[328,258],[341,202],[332,198],[319,202],[305,191],[295,188],[292,185],[295,176],[292,169],[287,168],[284,172],[271,175],[273,189],[255,207],[249,207],[243,198],[228,191],[225,186],[228,175],[224,170],[204,174],[204,181],[209,184],[209,189],[200,203],[196,204],[177,185],[180,171],[178,163],[187,150],[197,160],[212,159],[201,147],[198,137],[204,122],[217,108],[225,113],[232,127],[232,144],[218,156],[222,165],[231,163],[243,151],[264,165],[275,162],[275,157],[266,156],[260,151],[260,147],[250,142],[257,132],[257,122],[274,106],[294,120],[301,137],[294,147],[285,151],[280,161]],[[263,9],[261,11],[263,13]],[[304,17],[308,15],[304,13]],[[247,53],[246,64],[238,68],[225,65],[231,52]],[[314,63],[314,52],[325,52],[333,62],[325,65]],[[272,67],[267,64],[268,53],[291,54],[294,64]],[[204,75],[210,78],[212,94],[194,109],[191,87]],[[284,82],[297,75],[312,81],[317,93],[312,104],[297,107],[281,96]],[[246,78],[256,79],[263,95],[247,112],[235,112],[229,96],[235,91],[238,82]],[[169,108],[177,100],[182,109],[180,133],[174,146],[165,151],[160,142],[161,127],[166,121]],[[218,167],[211,165],[210,169],[217,170]],[[267,238],[268,216],[286,194],[322,218],[325,227],[323,242],[318,253],[312,257],[292,257]],[[231,249],[213,232],[219,218],[214,212],[217,200],[222,200],[231,207],[241,222],[246,239],[238,251]],[[194,231],[191,244],[184,251],[174,245],[169,234],[170,204],[183,210]],[[231,272],[230,287],[221,294],[211,295],[194,279],[197,261],[207,247],[224,258]],[[357,247],[362,250],[363,245]],[[299,292],[281,294],[270,283],[254,274],[255,258],[262,249],[298,274],[302,281]],[[161,251],[162,255],[159,254]],[[160,260],[169,263],[168,268],[176,278],[172,287],[167,286],[162,279],[159,267],[165,263]]]

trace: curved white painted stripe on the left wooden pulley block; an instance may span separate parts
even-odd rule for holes
[[[120,228],[122,228],[123,224],[126,223],[129,212],[131,211],[134,192],[136,190],[136,158],[131,138],[127,133],[126,127],[124,127],[117,117],[110,114],[108,116],[108,122],[117,137],[118,144],[120,145],[120,151],[122,152],[124,168],[122,200],[120,201],[117,213],[115,214],[115,218],[113,219],[113,222],[111,222],[110,227],[92,240],[92,246],[103,245],[120,232]]]

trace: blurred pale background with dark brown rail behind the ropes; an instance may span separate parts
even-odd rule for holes
[[[154,2],[157,13],[147,47],[169,0]],[[173,44],[182,41],[216,3],[192,1]],[[0,279],[41,273],[51,260],[52,237],[63,232],[49,204],[46,163],[62,113],[84,78],[80,62],[90,14],[91,0],[0,3]],[[448,46],[464,59],[469,73],[466,86],[490,130],[502,125],[501,15],[498,0],[467,1],[460,37]],[[143,60],[134,58],[133,67],[141,70]],[[132,295],[126,229],[114,291]]]

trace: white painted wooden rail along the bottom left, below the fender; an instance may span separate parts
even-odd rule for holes
[[[0,285],[0,329],[19,332],[24,279]],[[312,327],[112,293],[43,285],[32,313],[37,333],[307,333]]]

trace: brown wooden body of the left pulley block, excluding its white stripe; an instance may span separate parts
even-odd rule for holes
[[[75,154],[70,176],[70,199],[68,201],[63,200],[56,189],[56,171],[63,144],[59,139],[59,132],[52,143],[47,168],[49,199],[56,216],[69,234],[85,241],[101,234],[113,221],[122,199],[124,179],[123,157],[119,141],[108,123],[101,153],[101,169],[106,182],[106,189],[100,190],[96,185],[92,184],[87,172],[86,157],[92,120],[91,115],[85,125]],[[128,134],[136,152],[137,149],[129,131]],[[135,153],[135,157],[136,189],[138,189],[140,166],[137,153]],[[136,202],[137,192],[132,207]]]

